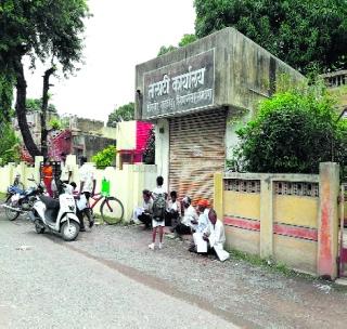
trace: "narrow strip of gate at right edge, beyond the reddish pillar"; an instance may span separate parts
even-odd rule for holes
[[[340,186],[339,196],[339,276],[347,277],[347,183]]]

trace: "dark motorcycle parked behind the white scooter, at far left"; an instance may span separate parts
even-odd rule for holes
[[[36,183],[34,179],[28,179],[28,181]],[[16,220],[20,214],[28,213],[34,205],[35,195],[43,194],[43,185],[37,183],[36,185],[22,189],[17,184],[14,184],[8,188],[7,199],[2,208],[4,208],[5,215],[10,221]]]

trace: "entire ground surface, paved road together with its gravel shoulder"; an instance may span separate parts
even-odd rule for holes
[[[0,212],[0,328],[347,328],[346,289],[150,240],[106,225],[66,244]]]

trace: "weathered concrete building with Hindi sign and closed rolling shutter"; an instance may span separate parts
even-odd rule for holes
[[[155,123],[155,163],[179,198],[213,200],[235,130],[285,74],[304,77],[233,28],[207,36],[136,68],[136,117]]]

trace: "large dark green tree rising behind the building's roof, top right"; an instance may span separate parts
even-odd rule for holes
[[[306,73],[347,67],[346,0],[194,0],[198,38],[232,26]]]

